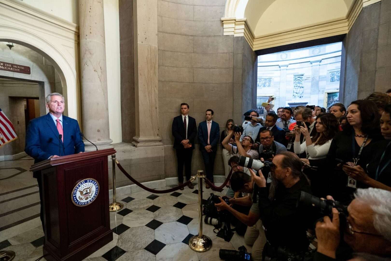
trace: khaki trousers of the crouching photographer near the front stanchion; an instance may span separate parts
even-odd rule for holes
[[[253,261],[262,260],[262,250],[264,250],[266,236],[261,220],[258,220],[252,227],[247,227],[246,234],[244,234],[244,243],[253,246],[251,250]]]

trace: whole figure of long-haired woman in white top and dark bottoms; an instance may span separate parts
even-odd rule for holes
[[[296,127],[296,126],[295,126]],[[325,182],[327,180],[326,155],[330,149],[334,136],[338,133],[338,121],[332,113],[321,113],[316,118],[316,135],[310,137],[307,126],[296,127],[296,139],[293,144],[294,153],[306,153],[307,157],[301,160],[310,166],[317,167],[317,170],[305,169],[304,173],[311,180],[311,190],[315,196],[324,197],[327,194]],[[305,142],[300,145],[300,133],[303,133]]]

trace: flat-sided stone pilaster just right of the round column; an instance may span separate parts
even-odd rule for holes
[[[158,2],[133,0],[136,147],[161,146],[158,102]]]

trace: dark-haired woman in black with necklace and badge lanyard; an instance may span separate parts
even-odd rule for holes
[[[380,115],[373,101],[353,101],[346,113],[348,123],[335,135],[327,159],[331,167],[330,195],[347,205],[352,201],[355,189],[366,185],[360,181],[352,185],[352,178],[344,173],[341,165],[350,162],[352,166],[366,167],[376,154],[376,143],[384,138],[380,133]]]

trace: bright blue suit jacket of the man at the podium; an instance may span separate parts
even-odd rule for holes
[[[25,152],[34,158],[34,163],[52,155],[64,156],[84,152],[79,123],[63,115],[64,143],[52,117],[47,115],[32,119],[27,126]]]

